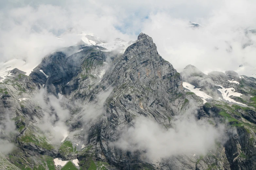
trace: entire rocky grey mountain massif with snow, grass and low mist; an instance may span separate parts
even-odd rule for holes
[[[2,169],[256,168],[255,78],[178,73],[143,33],[81,36],[0,82]]]

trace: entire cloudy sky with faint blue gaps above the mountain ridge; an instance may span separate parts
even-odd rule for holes
[[[107,40],[136,40],[140,32],[178,71],[188,64],[203,72],[256,65],[256,1],[249,0],[9,0],[0,1],[0,60],[40,61],[70,27]],[[188,27],[189,21],[202,25]],[[246,48],[243,48],[247,45]]]

